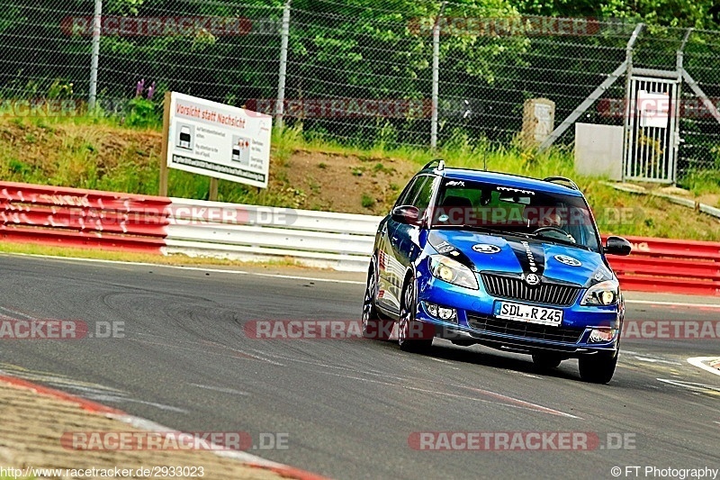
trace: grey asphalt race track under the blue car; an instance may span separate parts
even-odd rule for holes
[[[613,381],[590,385],[576,360],[542,374],[527,356],[445,341],[419,356],[373,340],[247,337],[248,321],[357,320],[364,285],[322,281],[319,271],[286,272],[311,280],[19,256],[0,265],[5,318],[124,322],[124,338],[0,340],[0,373],[178,430],[285,432],[287,449],[251,453],[321,475],[613,478],[620,466],[625,478],[626,466],[642,466],[644,478],[645,466],[720,468],[720,376],[687,361],[720,355],[718,339],[624,340]],[[713,321],[720,309],[628,303],[626,318]],[[434,431],[590,432],[600,443],[410,448],[413,435]]]

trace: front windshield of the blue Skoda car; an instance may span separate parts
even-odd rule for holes
[[[513,233],[599,251],[595,222],[581,196],[453,178],[443,182],[431,228]]]

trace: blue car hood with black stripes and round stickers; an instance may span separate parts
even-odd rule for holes
[[[511,234],[433,230],[428,241],[439,253],[477,272],[534,273],[577,285],[592,285],[613,277],[598,252]]]

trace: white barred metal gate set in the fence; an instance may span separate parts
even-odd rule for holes
[[[631,77],[626,105],[626,180],[675,183],[679,93],[677,77]]]

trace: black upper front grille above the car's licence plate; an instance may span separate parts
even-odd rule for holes
[[[482,284],[492,296],[559,306],[570,306],[575,303],[581,290],[579,286],[557,283],[530,286],[519,277],[487,273],[482,274]]]

